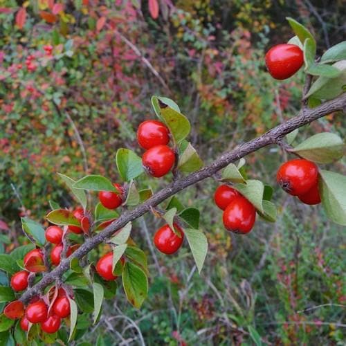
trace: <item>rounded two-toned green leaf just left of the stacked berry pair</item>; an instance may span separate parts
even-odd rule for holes
[[[116,166],[120,176],[125,181],[131,181],[144,172],[142,159],[125,148],[120,148],[116,152]]]

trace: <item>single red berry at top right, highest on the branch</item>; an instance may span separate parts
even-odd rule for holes
[[[302,50],[294,44],[278,44],[266,53],[266,67],[273,78],[290,78],[304,64]]]

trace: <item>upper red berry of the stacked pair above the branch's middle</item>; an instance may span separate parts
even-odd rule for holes
[[[143,149],[150,149],[156,145],[167,145],[170,141],[170,131],[162,122],[146,120],[138,127],[137,140]]]

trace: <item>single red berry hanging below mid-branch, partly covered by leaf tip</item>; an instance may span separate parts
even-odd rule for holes
[[[166,255],[171,255],[178,251],[183,244],[184,233],[183,230],[177,225],[174,224],[174,228],[179,231],[181,237],[176,235],[170,226],[165,225],[159,228],[154,235],[154,244],[158,251],[165,253]]]

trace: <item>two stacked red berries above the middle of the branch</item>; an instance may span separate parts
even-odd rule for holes
[[[146,150],[142,163],[147,173],[160,178],[170,172],[175,162],[174,150],[167,145],[170,130],[162,122],[146,120],[138,127],[137,139],[140,147]]]

